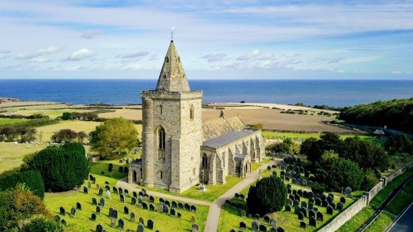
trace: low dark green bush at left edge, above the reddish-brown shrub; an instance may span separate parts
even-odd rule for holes
[[[45,184],[39,171],[21,171],[1,176],[0,190],[14,188],[17,183],[24,183],[34,195],[44,198]]]

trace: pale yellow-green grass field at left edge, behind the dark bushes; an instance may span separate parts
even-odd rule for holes
[[[40,151],[46,145],[32,145],[26,143],[11,144],[0,142],[0,173],[19,167],[23,163],[23,157]]]

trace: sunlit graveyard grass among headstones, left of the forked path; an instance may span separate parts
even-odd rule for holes
[[[104,178],[96,176],[96,179],[100,186],[104,186]],[[87,186],[87,184],[84,186]],[[81,189],[83,189],[83,187],[81,187]],[[105,197],[106,193],[104,193],[103,196]],[[65,219],[67,224],[74,224],[76,231],[96,231],[96,226],[98,224],[102,224],[103,229],[106,229],[107,231],[119,231],[118,229],[111,227],[111,219],[108,217],[110,207],[118,210],[118,220],[120,218],[125,220],[125,230],[130,229],[131,231],[136,231],[138,220],[142,217],[145,222],[145,227],[147,226],[147,220],[153,220],[153,231],[156,231],[157,229],[160,231],[191,231],[191,217],[194,215],[195,223],[199,225],[200,231],[203,231],[205,227],[204,222],[207,221],[209,211],[209,207],[201,205],[196,205],[196,213],[178,209],[177,213],[182,213],[182,218],[178,219],[169,215],[132,206],[130,204],[130,197],[125,197],[125,202],[120,202],[119,194],[112,192],[111,189],[111,198],[106,199],[105,207],[100,207],[100,215],[97,215],[96,222],[94,222],[91,220],[92,213],[96,213],[96,205],[92,204],[93,197],[99,202],[100,197],[98,196],[98,190],[96,190],[95,184],[92,184],[92,189],[89,189],[88,194],[81,191],[45,193],[44,202],[52,215],[60,213],[59,207],[65,208],[66,215],[61,215],[61,218]],[[72,218],[70,217],[70,210],[72,207],[76,207],[76,202],[81,202],[82,210],[76,210],[76,217]],[[157,205],[159,204],[158,198],[155,198],[155,203],[155,207],[157,208]],[[136,214],[136,222],[131,222],[129,220],[130,215],[124,213],[123,207],[125,206],[129,207],[129,213],[134,212]],[[116,220],[116,226],[118,226],[118,220]],[[146,227],[145,231],[147,231],[147,229],[148,228]]]

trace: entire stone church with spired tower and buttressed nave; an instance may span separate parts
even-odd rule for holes
[[[129,165],[129,183],[182,193],[202,181],[225,184],[228,175],[246,177],[261,162],[260,129],[240,116],[202,123],[202,91],[189,89],[173,40],[155,90],[142,91],[142,158]]]

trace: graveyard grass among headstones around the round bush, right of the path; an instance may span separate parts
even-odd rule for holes
[[[271,171],[267,171],[266,169],[262,170],[262,176],[270,176],[272,175],[272,171],[276,171],[277,172],[277,176],[280,176],[280,172],[281,169],[279,169],[277,167],[277,169],[271,169]],[[307,179],[307,178],[304,178]],[[284,180],[285,183],[289,183],[291,184],[291,189],[301,189],[301,190],[306,190],[306,191],[310,191],[311,188],[310,187],[302,187],[299,186],[297,184],[292,184],[291,181],[286,182],[286,180]],[[253,182],[251,185],[255,184],[255,182]],[[240,194],[244,194],[244,196],[246,196],[246,198],[248,197],[248,190],[249,187],[246,187],[245,189],[243,189],[242,191],[240,191]],[[341,197],[340,193],[333,193],[335,195],[334,198],[334,202],[337,204],[339,202],[339,198]],[[301,198],[301,201],[303,199],[306,198]],[[308,200],[308,199],[306,199]],[[231,200],[231,202],[241,202],[243,204],[244,209],[246,209],[246,213],[248,215],[248,207],[246,206],[246,201],[242,201],[242,200],[238,200],[236,198],[233,198]],[[346,209],[347,207],[349,207],[352,203],[354,202],[354,200],[352,200],[352,198],[347,198],[346,197],[346,204],[344,204],[344,209]],[[284,208],[279,211],[279,212],[275,212],[275,213],[271,213],[270,214],[270,218],[274,218],[275,220],[277,220],[277,226],[282,226],[286,231],[317,231],[318,229],[321,228],[322,225],[324,224],[328,224],[328,222],[330,222],[330,220],[332,218],[335,217],[335,215],[337,215],[339,213],[339,211],[334,210],[333,211],[333,215],[327,214],[326,213],[326,207],[318,207],[315,205],[315,207],[317,207],[319,209],[319,211],[321,213],[324,214],[324,221],[321,222],[320,220],[317,220],[317,227],[313,227],[310,226],[308,223],[308,218],[304,218],[304,222],[306,222],[307,224],[307,229],[302,229],[299,226],[299,222],[301,222],[301,220],[298,220],[298,216],[297,214],[293,213],[293,209],[292,212],[285,212]],[[261,215],[262,216],[262,215]],[[251,231],[251,224],[253,222],[253,218],[242,218],[241,217],[241,213],[240,210],[234,209],[233,207],[229,207],[227,205],[222,206],[222,210],[221,210],[221,215],[220,215],[220,223],[218,225],[218,231],[220,232],[227,232],[230,231],[231,229],[235,229],[235,231],[238,231],[240,229],[240,222],[245,222],[246,223],[246,230],[244,231]],[[260,218],[259,221],[260,224],[265,224],[267,226],[267,230],[269,231],[270,226],[267,222],[264,222],[264,220],[262,218]]]

